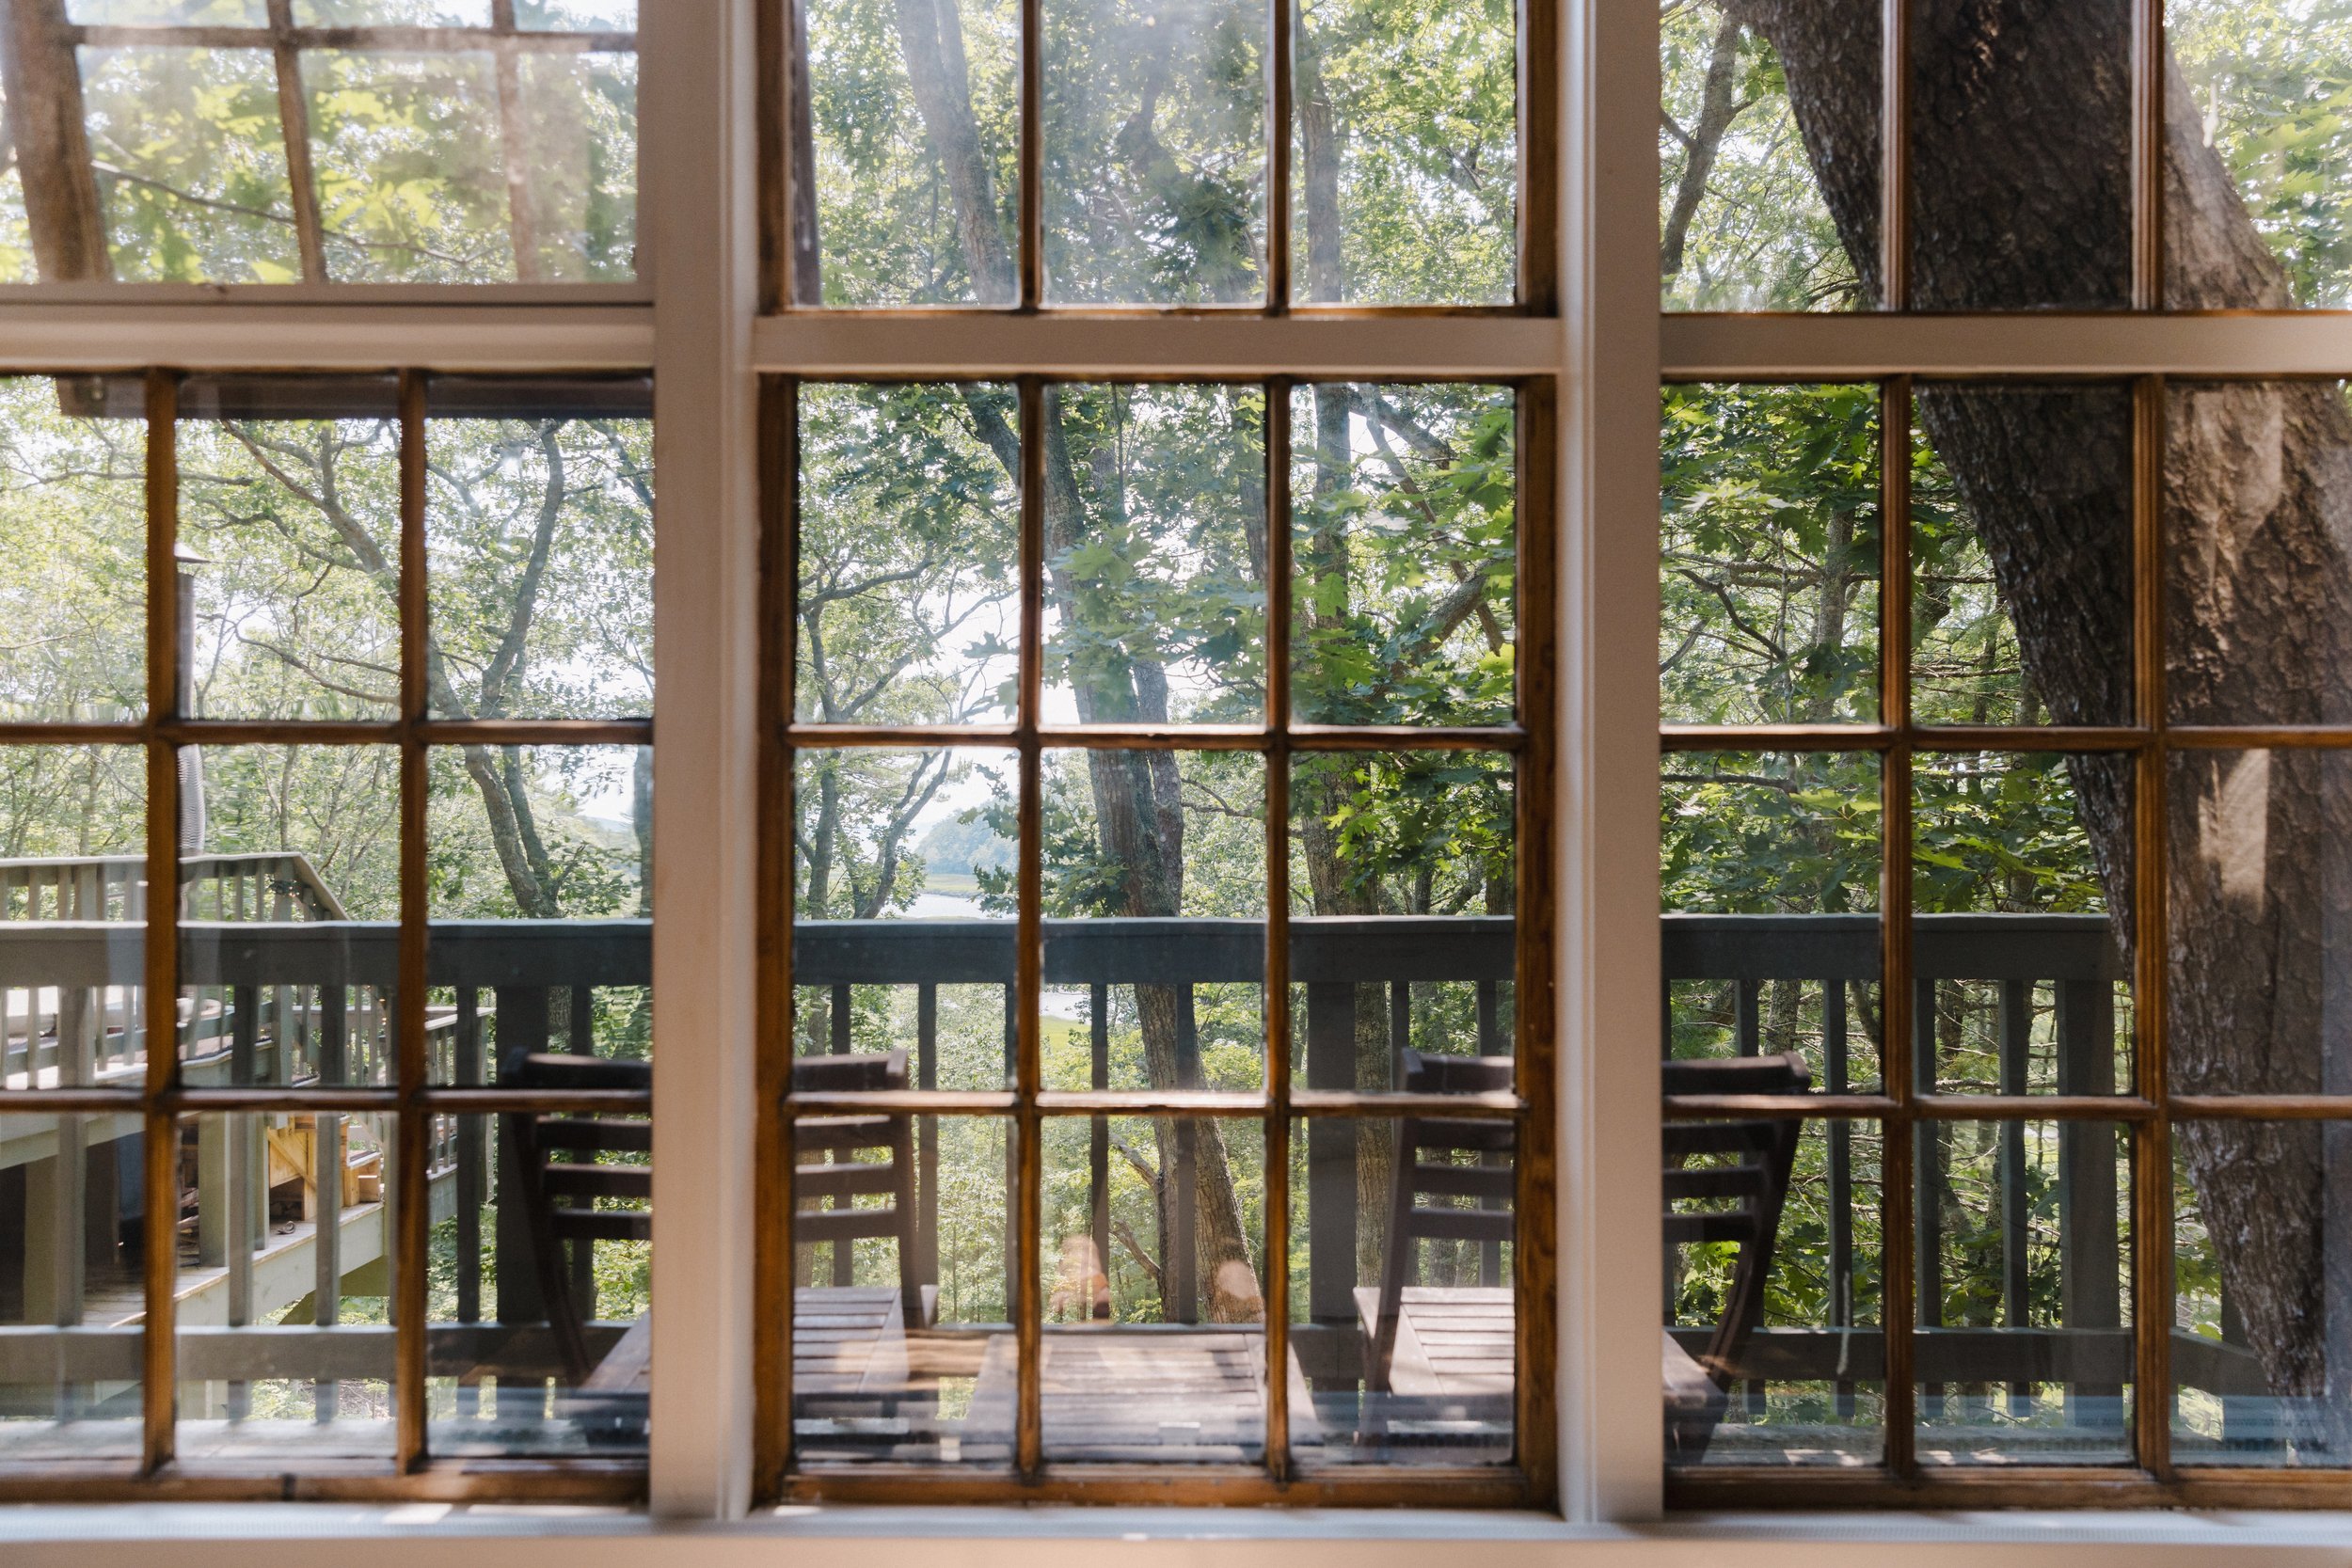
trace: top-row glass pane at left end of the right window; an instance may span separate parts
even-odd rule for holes
[[[1661,7],[1668,310],[1879,303],[1879,12],[1877,0]]]

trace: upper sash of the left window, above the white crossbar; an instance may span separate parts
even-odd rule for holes
[[[633,282],[635,26],[635,0],[14,0],[0,282]]]

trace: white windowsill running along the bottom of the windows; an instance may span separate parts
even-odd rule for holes
[[[2256,1512],[1973,1512],[1973,1514],[1691,1514],[1649,1526],[1571,1526],[1541,1514],[1385,1509],[887,1509],[788,1507],[741,1523],[663,1523],[623,1509],[447,1505],[96,1505],[0,1509],[0,1556],[12,1563],[143,1561],[169,1568],[275,1568],[336,1549],[339,1568],[409,1563],[430,1544],[435,1566],[649,1568],[649,1563],[793,1563],[873,1568],[875,1542],[962,1542],[955,1561],[1007,1568],[1098,1566],[1103,1544],[1183,1552],[1216,1544],[1218,1568],[1425,1568],[1430,1542],[1479,1544],[1482,1568],[1517,1563],[1691,1563],[1820,1568],[1879,1561],[1886,1547],[1936,1561],[1976,1561],[2002,1547],[2002,1568],[2037,1563],[2343,1563],[2352,1514]],[[830,1542],[830,1549],[828,1549]],[[1957,1549],[1957,1552],[1952,1552]],[[1952,1552],[1952,1554],[1947,1554]],[[906,1554],[891,1554],[903,1561]],[[1183,1552],[1174,1561],[1204,1561]]]

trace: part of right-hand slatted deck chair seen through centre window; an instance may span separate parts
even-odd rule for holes
[[[1423,1056],[1399,1053],[1399,1088],[1421,1095],[1472,1095],[1510,1093],[1512,1058],[1508,1056]],[[1416,1244],[1428,1241],[1477,1241],[1505,1244],[1512,1239],[1512,1192],[1517,1147],[1510,1121],[1472,1117],[1402,1117],[1397,1121],[1397,1166],[1390,1180],[1388,1253],[1381,1267],[1378,1305],[1371,1312],[1371,1356],[1364,1366],[1364,1385],[1378,1394],[1392,1392],[1397,1382],[1397,1338],[1404,1321],[1404,1291],[1411,1284]],[[1475,1154],[1477,1164],[1456,1164],[1458,1154]],[[1475,1208],[1425,1206],[1421,1199],[1475,1199]],[[1451,1291],[1468,1307],[1494,1307],[1491,1291]],[[1503,1321],[1508,1324],[1508,1291]],[[1491,1356],[1486,1356],[1491,1359]],[[1486,1361],[1482,1359],[1482,1361]],[[1510,1354],[1503,1363],[1508,1373]],[[1489,1375],[1463,1380],[1482,1394]],[[1503,1392],[1510,1392],[1508,1380]]]

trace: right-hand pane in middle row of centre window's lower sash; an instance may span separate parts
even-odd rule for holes
[[[1510,757],[1498,755],[1291,762],[1291,1072],[1301,1088],[1510,1088],[1512,799]]]

